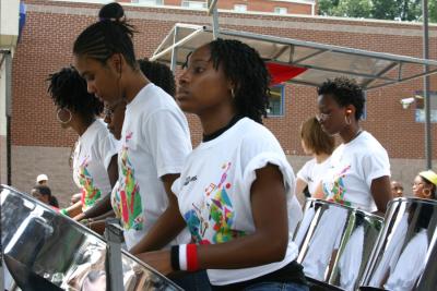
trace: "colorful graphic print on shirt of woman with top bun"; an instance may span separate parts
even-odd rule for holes
[[[118,209],[115,213],[120,214],[121,222],[126,230],[142,230],[144,218],[140,186],[135,181],[135,171],[129,160],[129,148],[127,146],[129,140],[132,138],[132,134],[127,134],[120,153],[121,165],[119,167],[121,167],[121,177],[115,197],[116,205],[118,205]]]

